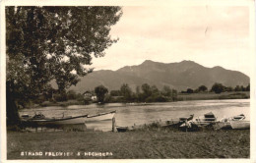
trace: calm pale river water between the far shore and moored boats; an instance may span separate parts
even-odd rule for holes
[[[33,115],[41,112],[46,117],[78,116],[82,114],[96,114],[116,110],[115,121],[117,126],[133,126],[147,124],[154,121],[167,121],[180,117],[189,117],[194,114],[199,117],[208,112],[213,112],[218,119],[235,116],[243,113],[250,120],[250,100],[197,100],[178,101],[151,104],[105,104],[105,105],[72,105],[68,107],[41,107],[23,109],[20,114]],[[110,130],[110,129],[109,129]]]

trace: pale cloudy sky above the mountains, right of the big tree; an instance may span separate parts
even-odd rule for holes
[[[191,60],[250,75],[249,8],[246,6],[125,6],[111,28],[119,38],[93,59],[95,70],[117,70],[145,60]]]

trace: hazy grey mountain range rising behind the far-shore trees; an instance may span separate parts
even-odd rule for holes
[[[146,60],[141,65],[125,66],[119,70],[99,70],[94,71],[76,86],[71,86],[77,92],[94,90],[97,85],[104,85],[108,90],[117,90],[123,83],[128,83],[135,90],[137,85],[149,83],[162,88],[168,85],[177,90],[186,90],[187,88],[197,88],[204,84],[211,89],[215,82],[221,82],[225,86],[244,85],[250,82],[248,76],[238,72],[225,70],[217,66],[207,68],[193,61],[182,61],[178,63],[160,63]]]

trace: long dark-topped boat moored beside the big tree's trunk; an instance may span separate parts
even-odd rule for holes
[[[22,116],[22,122],[25,125],[32,126],[60,126],[60,125],[78,125],[85,124],[86,115],[82,116],[69,116],[69,117],[52,117],[46,118],[43,114],[35,114],[33,117]]]

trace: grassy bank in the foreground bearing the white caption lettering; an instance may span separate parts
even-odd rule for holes
[[[189,133],[169,130],[126,133],[8,132],[7,137],[8,159],[249,158],[250,153],[249,130]],[[27,152],[27,155],[21,156],[21,152]],[[42,152],[42,156],[29,156],[28,152]],[[49,156],[45,152],[72,152],[72,155]],[[78,152],[81,152],[79,156]],[[89,152],[108,154],[92,156],[93,153]]]

